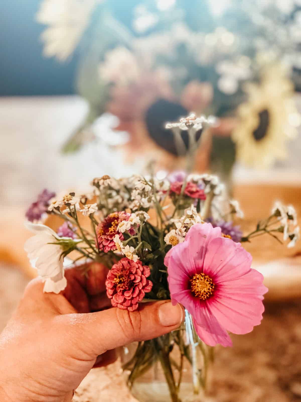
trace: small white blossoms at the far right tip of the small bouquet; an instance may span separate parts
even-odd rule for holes
[[[272,209],[272,214],[277,217],[283,227],[283,240],[290,240],[287,247],[294,247],[300,238],[300,228],[298,226],[297,213],[293,205],[283,205],[276,201]]]

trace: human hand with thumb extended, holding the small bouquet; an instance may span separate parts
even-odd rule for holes
[[[92,367],[114,360],[114,348],[179,327],[183,310],[169,301],[143,303],[135,312],[96,312],[110,306],[107,273],[100,263],[91,263],[87,275],[68,269],[58,295],[43,293],[41,279],[28,284],[0,335],[2,402],[70,402]]]

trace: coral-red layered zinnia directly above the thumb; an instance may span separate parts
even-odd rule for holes
[[[146,279],[150,276],[150,269],[128,258],[122,258],[114,264],[106,280],[107,296],[112,306],[122,310],[135,311],[138,301],[141,301],[152,290],[153,283]]]

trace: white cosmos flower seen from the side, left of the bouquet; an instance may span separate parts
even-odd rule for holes
[[[58,238],[57,234],[48,226],[26,222],[28,230],[35,233],[29,238],[24,249],[33,268],[45,281],[44,292],[59,293],[67,286],[64,275],[63,258],[61,258],[61,246],[53,243]]]

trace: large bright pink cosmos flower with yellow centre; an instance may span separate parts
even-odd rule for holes
[[[207,345],[232,346],[227,331],[246,334],[260,324],[268,289],[251,262],[240,243],[222,237],[211,224],[192,226],[185,241],[167,253],[173,304],[183,304]]]

